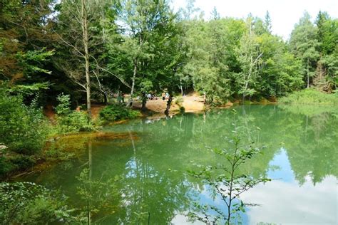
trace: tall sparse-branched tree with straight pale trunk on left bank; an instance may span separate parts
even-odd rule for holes
[[[104,31],[101,21],[106,12],[115,7],[114,1],[61,1],[57,7],[55,33],[59,38],[56,66],[86,91],[88,116],[91,117],[91,77],[95,70],[106,68],[100,65],[103,52]],[[63,58],[73,56],[68,61]],[[98,79],[96,79],[98,80]],[[99,80],[98,80],[99,82]],[[98,85],[101,85],[98,83]]]

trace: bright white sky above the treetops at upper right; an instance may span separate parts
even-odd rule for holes
[[[185,7],[185,0],[172,0],[174,9]],[[210,19],[211,11],[216,7],[222,17],[245,18],[250,12],[253,16],[264,18],[269,11],[272,19],[272,33],[285,40],[304,11],[316,18],[318,11],[327,11],[332,18],[338,18],[338,0],[196,0],[195,7],[205,12]]]

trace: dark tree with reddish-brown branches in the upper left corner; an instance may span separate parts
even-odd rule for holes
[[[0,5],[0,79],[12,92],[30,96],[48,89],[46,68],[53,56],[48,45],[51,1],[1,1]],[[33,98],[34,96],[31,96]]]

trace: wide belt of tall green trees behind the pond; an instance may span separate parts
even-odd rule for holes
[[[140,95],[145,108],[145,94],[163,90],[196,90],[217,104],[337,88],[337,19],[322,11],[314,22],[305,13],[285,41],[272,34],[268,12],[234,19],[215,9],[206,21],[193,16],[201,13],[193,1],[178,12],[167,0],[4,5],[1,80],[28,101],[40,93],[46,104],[64,92],[90,108],[91,100],[107,103],[122,92]]]

